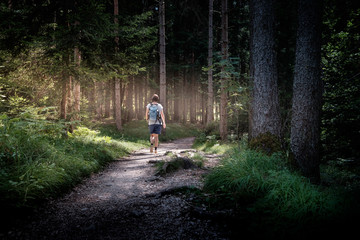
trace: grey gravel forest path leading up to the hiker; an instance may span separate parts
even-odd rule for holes
[[[191,194],[176,191],[201,189],[202,177],[219,156],[205,154],[201,168],[156,175],[154,162],[168,158],[168,152],[194,151],[193,141],[160,143],[157,155],[142,149],[112,162],[64,197],[13,219],[0,239],[229,239],[223,224],[199,214]]]

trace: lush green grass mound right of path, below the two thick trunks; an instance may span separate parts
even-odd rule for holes
[[[247,229],[260,234],[289,234],[289,229],[296,234],[329,221],[339,223],[350,211],[359,213],[345,189],[313,185],[286,162],[280,153],[266,156],[233,148],[206,176],[204,202],[210,208],[235,209]]]

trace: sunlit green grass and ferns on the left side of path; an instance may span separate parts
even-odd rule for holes
[[[69,191],[109,162],[147,147],[146,122],[134,121],[117,131],[111,124],[52,122],[41,116],[0,118],[0,203],[34,207]],[[163,141],[194,135],[194,129],[169,124]]]

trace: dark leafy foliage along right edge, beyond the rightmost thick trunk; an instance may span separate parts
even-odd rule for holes
[[[337,11],[347,6],[344,17]],[[327,7],[323,46],[324,105],[322,142],[325,159],[359,159],[360,148],[360,6],[335,1]]]

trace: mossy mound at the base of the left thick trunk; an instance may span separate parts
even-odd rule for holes
[[[282,151],[279,138],[269,132],[261,133],[257,137],[252,138],[249,142],[249,147],[250,149],[261,151],[268,156]]]

